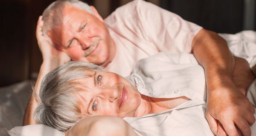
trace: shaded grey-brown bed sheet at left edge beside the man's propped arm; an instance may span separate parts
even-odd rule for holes
[[[21,126],[32,82],[23,81],[0,88],[0,127]]]

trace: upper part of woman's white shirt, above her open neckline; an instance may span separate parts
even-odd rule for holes
[[[202,101],[207,99],[204,68],[198,65],[193,54],[160,52],[140,60],[130,77],[136,76],[141,77],[145,84],[137,85],[137,89],[146,96],[186,96],[192,100]]]

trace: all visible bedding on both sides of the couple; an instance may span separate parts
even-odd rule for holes
[[[227,40],[230,51],[245,58],[256,75],[256,31],[242,31],[237,34],[220,34]],[[0,88],[0,136],[64,136],[64,133],[46,125],[22,127],[23,114],[32,90],[34,80],[26,80]],[[256,105],[256,80],[250,86],[247,97]],[[252,127],[256,135],[256,125]]]

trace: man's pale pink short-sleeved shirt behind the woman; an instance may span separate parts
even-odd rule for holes
[[[143,0],[117,8],[105,23],[116,44],[115,57],[105,69],[124,77],[140,59],[159,51],[191,52],[192,40],[202,28]]]

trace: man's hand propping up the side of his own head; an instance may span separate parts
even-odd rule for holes
[[[43,35],[42,28],[44,26],[44,21],[42,21],[42,16],[39,17],[37,28],[36,28],[36,38],[38,41],[38,46],[43,56],[43,60],[57,60],[58,65],[62,65],[69,62],[70,57],[63,51],[57,50],[47,38]],[[55,61],[56,62],[56,61]]]

